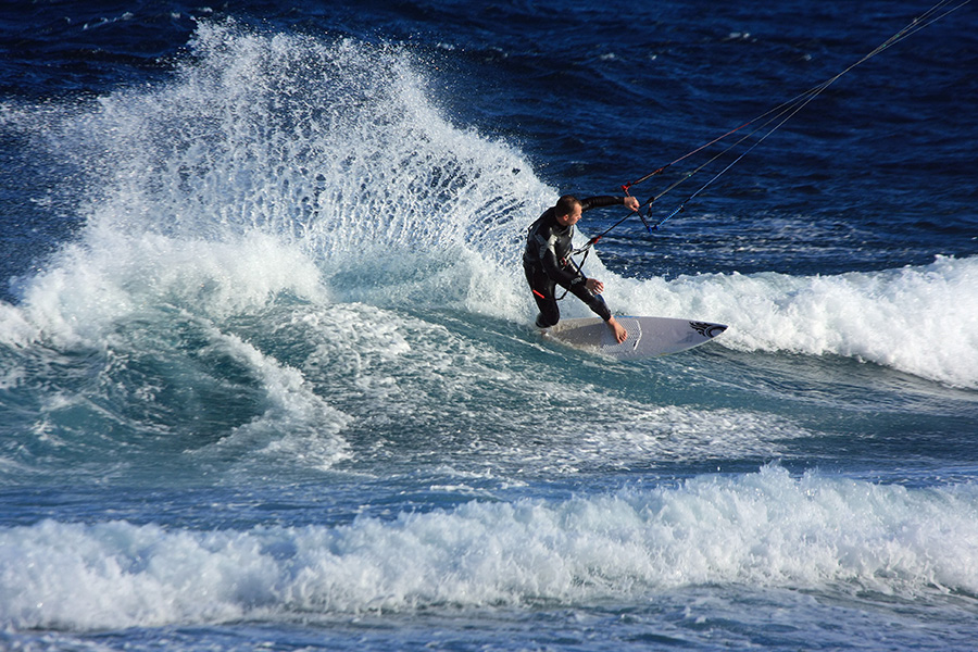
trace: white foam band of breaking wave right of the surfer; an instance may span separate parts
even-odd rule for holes
[[[702,275],[617,279],[609,299],[636,314],[726,323],[744,351],[835,354],[978,387],[978,259],[836,276]]]

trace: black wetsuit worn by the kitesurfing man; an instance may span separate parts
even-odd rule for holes
[[[580,201],[580,211],[584,213],[590,209],[622,204],[624,201],[622,197],[589,197]],[[557,285],[584,301],[605,322],[612,316],[604,299],[587,288],[587,277],[570,260],[573,237],[574,225],[557,224],[556,206],[548,209],[527,231],[523,268],[540,309],[537,316],[537,326],[540,328],[553,326],[561,319],[554,293]]]

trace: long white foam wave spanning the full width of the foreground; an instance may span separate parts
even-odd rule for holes
[[[0,624],[90,629],[439,605],[635,600],[740,584],[978,591],[971,486],[778,467],[562,502],[472,502],[344,526],[0,529]]]

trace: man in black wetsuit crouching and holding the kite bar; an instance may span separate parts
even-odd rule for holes
[[[624,342],[628,337],[625,327],[615,321],[601,292],[604,284],[588,278],[570,260],[574,225],[580,214],[591,209],[612,205],[626,205],[638,211],[639,201],[635,197],[589,197],[579,200],[565,195],[556,205],[547,209],[540,218],[529,227],[526,238],[526,251],[523,253],[523,269],[529,283],[534,299],[540,314],[537,315],[537,327],[549,328],[561,319],[557,308],[556,286],[561,286],[584,301],[599,317],[604,319],[615,335],[615,340]]]

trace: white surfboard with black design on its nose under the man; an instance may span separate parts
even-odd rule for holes
[[[543,330],[543,335],[570,347],[617,360],[638,360],[692,349],[727,329],[724,324],[673,317],[616,316],[615,319],[628,330],[628,339],[620,344],[615,341],[607,324],[598,317],[561,319],[556,326]]]

